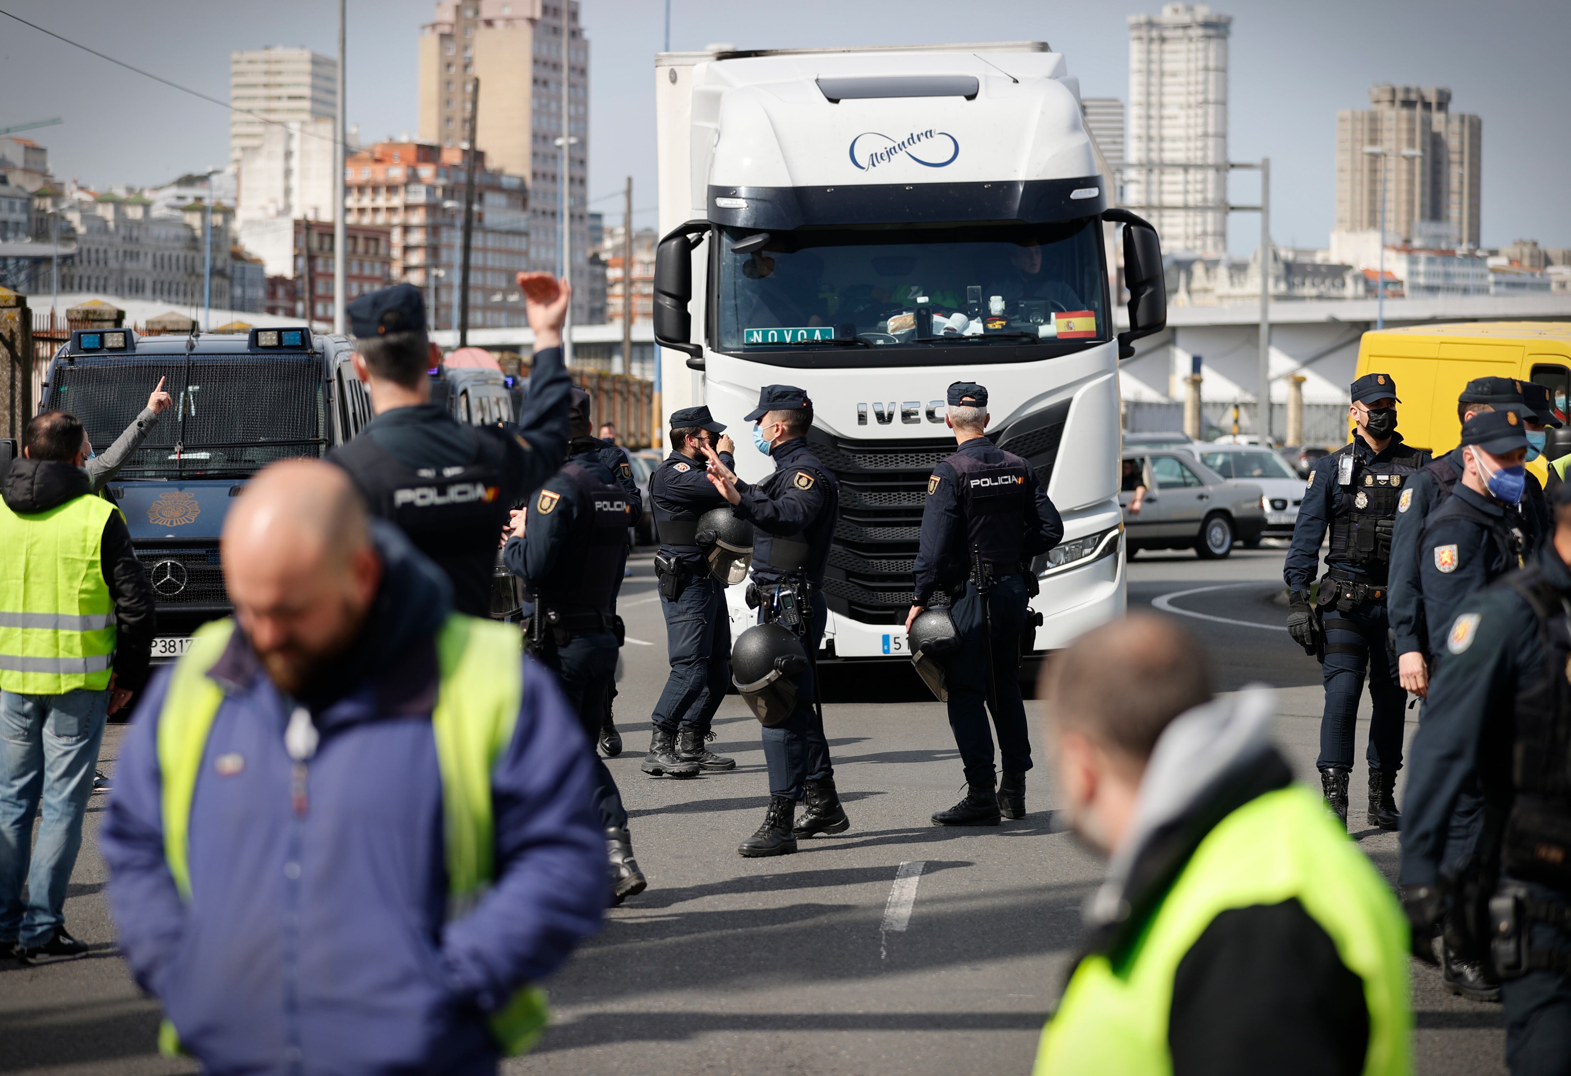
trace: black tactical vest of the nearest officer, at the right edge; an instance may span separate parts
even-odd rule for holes
[[[1502,862],[1518,878],[1571,889],[1571,600],[1536,564],[1502,584],[1533,609],[1544,650],[1543,675],[1518,693],[1511,716],[1514,798]],[[1488,789],[1488,770],[1480,773]]]

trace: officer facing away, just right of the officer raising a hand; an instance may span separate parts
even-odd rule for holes
[[[589,393],[573,388],[567,462],[525,512],[514,512],[514,533],[503,562],[528,581],[533,600],[529,650],[556,671],[562,694],[592,743],[605,713],[605,690],[616,677],[622,624],[611,611],[627,561],[632,503],[602,462],[605,445],[589,435]],[[633,859],[627,809],[605,762],[595,756],[595,807],[605,826],[616,903],[644,891]]]

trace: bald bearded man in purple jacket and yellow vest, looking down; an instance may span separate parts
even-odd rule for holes
[[[336,467],[261,471],[222,554],[236,616],[149,686],[102,834],[160,1041],[217,1073],[495,1073],[606,903],[577,716]]]

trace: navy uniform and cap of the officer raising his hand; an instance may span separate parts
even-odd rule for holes
[[[426,305],[413,284],[394,284],[349,303],[349,319],[361,338],[424,333]],[[489,616],[507,509],[562,463],[567,388],[561,349],[536,352],[515,432],[462,426],[440,407],[418,404],[377,415],[328,460],[349,471],[372,515],[396,523],[441,567],[459,613]]]

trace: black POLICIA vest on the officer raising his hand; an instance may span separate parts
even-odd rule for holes
[[[410,468],[372,437],[357,437],[333,452],[349,471],[372,515],[391,520],[452,581],[452,606],[490,616],[496,539],[507,522],[501,501],[506,448],[476,429],[474,459],[463,467]]]

